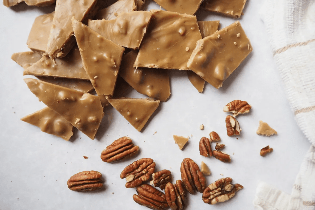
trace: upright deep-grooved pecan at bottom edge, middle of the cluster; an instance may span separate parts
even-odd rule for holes
[[[167,183],[164,191],[171,210],[182,210],[184,208],[186,205],[186,191],[181,180],[177,180],[176,184]]]

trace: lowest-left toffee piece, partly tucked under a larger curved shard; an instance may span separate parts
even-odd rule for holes
[[[22,117],[21,120],[39,127],[45,133],[61,137],[66,141],[73,135],[71,123],[49,107]]]

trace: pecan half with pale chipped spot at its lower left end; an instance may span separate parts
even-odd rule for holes
[[[155,162],[151,158],[142,158],[125,167],[120,178],[126,178],[126,188],[132,188],[148,180],[154,170]]]

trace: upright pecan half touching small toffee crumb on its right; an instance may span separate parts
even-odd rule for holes
[[[202,193],[206,188],[206,178],[192,159],[185,158],[183,160],[180,166],[180,175],[186,190],[190,194],[194,194],[195,190]]]

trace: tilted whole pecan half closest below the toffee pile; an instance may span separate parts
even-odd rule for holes
[[[113,162],[125,157],[134,155],[139,151],[139,147],[132,143],[129,137],[121,137],[102,151],[100,158],[104,162]]]

